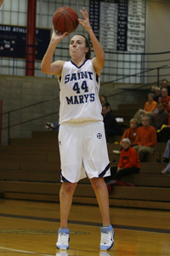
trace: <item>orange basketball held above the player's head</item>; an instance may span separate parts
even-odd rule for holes
[[[78,15],[70,7],[61,7],[53,15],[53,25],[56,32],[73,32],[78,26]]]

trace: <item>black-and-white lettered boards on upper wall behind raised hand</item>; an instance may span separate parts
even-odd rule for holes
[[[144,52],[144,0],[90,0],[89,19],[105,49]]]

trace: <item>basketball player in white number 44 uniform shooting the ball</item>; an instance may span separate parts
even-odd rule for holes
[[[105,53],[88,20],[79,23],[88,32],[94,46],[95,57],[90,60],[90,44],[82,35],[71,38],[71,61],[54,61],[54,50],[68,35],[52,34],[42,59],[42,72],[57,75],[59,79],[59,153],[61,160],[59,249],[69,248],[67,220],[77,182],[87,177],[94,188],[102,215],[100,249],[108,250],[114,244],[114,231],[110,223],[108,191],[104,177],[110,176],[110,162],[105,142],[105,130],[99,101],[99,77],[105,62]]]

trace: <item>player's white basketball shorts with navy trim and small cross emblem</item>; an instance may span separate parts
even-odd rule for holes
[[[59,125],[59,153],[62,182],[111,175],[102,121]]]

